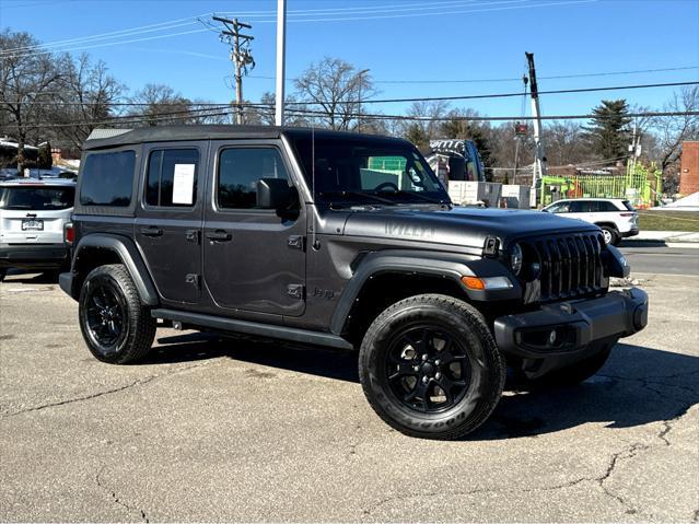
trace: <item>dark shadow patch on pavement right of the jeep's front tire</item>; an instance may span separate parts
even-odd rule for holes
[[[587,422],[630,428],[672,420],[699,403],[698,377],[697,357],[618,343],[582,384],[503,396],[469,440],[537,436]]]

